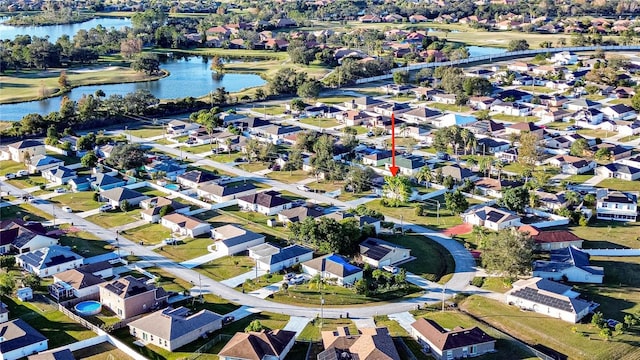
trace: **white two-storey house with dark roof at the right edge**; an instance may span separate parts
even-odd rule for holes
[[[600,220],[636,221],[638,195],[622,191],[601,191],[596,194],[596,217]]]

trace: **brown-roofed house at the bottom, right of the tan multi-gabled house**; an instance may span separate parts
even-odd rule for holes
[[[420,318],[411,324],[411,335],[436,360],[460,359],[496,351],[496,339],[477,326],[446,330],[433,320]]]

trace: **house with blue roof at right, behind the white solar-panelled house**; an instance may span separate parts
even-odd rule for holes
[[[602,284],[604,269],[591,266],[589,254],[575,246],[552,250],[549,261],[533,262],[533,276],[549,280]]]

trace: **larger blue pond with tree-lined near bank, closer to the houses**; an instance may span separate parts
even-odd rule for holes
[[[157,81],[126,84],[80,86],[65,94],[71,100],[79,100],[83,94],[93,94],[96,90],[111,94],[125,95],[139,89],[147,89],[160,99],[177,99],[188,96],[207,95],[219,87],[229,92],[245,88],[262,86],[266,82],[255,74],[227,73],[222,78],[212,76],[209,63],[202,57],[192,56],[181,59],[168,58],[160,67],[169,71],[170,75]],[[60,109],[62,97],[54,97],[42,101],[28,101],[16,104],[0,105],[0,120],[19,121],[29,113],[48,114]]]

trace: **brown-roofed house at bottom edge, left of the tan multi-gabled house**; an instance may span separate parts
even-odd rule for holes
[[[296,333],[269,330],[236,333],[220,350],[220,360],[284,360],[293,347]]]

